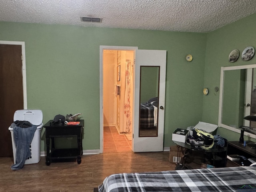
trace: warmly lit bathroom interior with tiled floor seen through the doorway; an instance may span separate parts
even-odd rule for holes
[[[134,50],[103,50],[103,153],[132,152]]]

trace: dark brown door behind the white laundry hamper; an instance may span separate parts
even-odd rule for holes
[[[0,156],[12,156],[10,124],[23,109],[22,47],[0,44]]]

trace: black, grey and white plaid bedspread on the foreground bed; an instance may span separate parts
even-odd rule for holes
[[[256,192],[256,167],[113,174],[99,192]]]

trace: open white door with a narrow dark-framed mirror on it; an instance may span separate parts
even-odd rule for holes
[[[165,81],[166,50],[135,50],[134,138],[132,142],[134,152],[163,151]],[[146,118],[142,121],[144,117],[142,108],[152,98],[158,98],[158,107],[154,110],[154,126],[147,127]],[[148,114],[152,114],[152,106],[149,107]]]

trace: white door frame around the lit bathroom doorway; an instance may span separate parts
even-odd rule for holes
[[[137,50],[137,49],[138,47],[104,46],[104,45],[100,46],[100,153],[103,153],[103,50]]]

